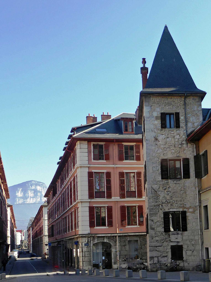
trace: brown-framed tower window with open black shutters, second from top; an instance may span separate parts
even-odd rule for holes
[[[189,158],[161,159],[161,179],[183,179],[190,178]],[[183,173],[183,174],[182,174]]]

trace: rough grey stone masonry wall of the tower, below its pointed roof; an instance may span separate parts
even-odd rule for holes
[[[161,112],[179,112],[180,128],[163,129]],[[150,271],[171,269],[171,245],[183,245],[185,270],[200,265],[197,185],[194,172],[194,145],[186,141],[184,95],[145,95],[143,101],[145,137],[144,162],[147,165],[146,209],[149,218],[147,260]],[[202,121],[201,98],[186,96],[187,132]],[[190,179],[161,179],[160,160],[189,158]],[[187,212],[187,232],[164,232],[163,212]],[[179,264],[182,264],[183,261]]]

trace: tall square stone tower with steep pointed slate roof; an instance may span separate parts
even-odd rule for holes
[[[143,128],[149,270],[173,270],[175,261],[177,270],[197,270],[202,237],[195,147],[186,137],[202,122],[201,101],[206,92],[196,87],[167,26],[147,81],[143,61],[139,123]]]

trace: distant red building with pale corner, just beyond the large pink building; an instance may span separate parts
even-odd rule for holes
[[[47,255],[48,251],[48,221],[47,202],[43,203],[32,224],[28,228],[28,241],[32,245],[32,252],[37,255]]]

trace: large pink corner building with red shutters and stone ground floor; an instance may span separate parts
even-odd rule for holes
[[[146,261],[142,128],[135,114],[73,127],[47,189],[54,265],[100,269]]]

